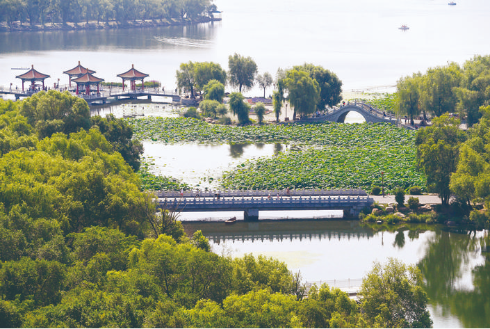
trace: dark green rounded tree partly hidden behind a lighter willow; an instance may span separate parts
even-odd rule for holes
[[[326,106],[335,106],[341,102],[342,81],[338,79],[335,73],[326,70],[320,65],[316,66],[307,63],[295,66],[293,69],[307,72],[311,79],[315,79],[318,82],[320,87],[320,98],[316,104],[318,111],[323,111]]]

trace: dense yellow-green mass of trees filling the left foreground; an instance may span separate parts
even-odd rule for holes
[[[111,116],[90,118],[86,106],[54,90],[0,100],[3,326],[432,325],[419,280],[393,291],[400,303],[376,310],[370,278],[358,305],[325,284],[309,289],[299,272],[275,259],[220,256],[202,232],[186,236],[177,216],[142,191],[122,156],[136,143],[131,127]],[[418,278],[411,268],[387,266],[404,282]]]

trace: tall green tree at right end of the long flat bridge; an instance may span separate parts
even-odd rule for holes
[[[456,171],[459,147],[466,135],[459,129],[459,120],[447,114],[432,122],[431,127],[417,133],[417,161],[427,177],[427,187],[439,193],[442,204],[447,205],[451,195],[450,177]]]

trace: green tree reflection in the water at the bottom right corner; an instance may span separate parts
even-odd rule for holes
[[[443,316],[457,316],[465,328],[490,328],[490,246],[488,232],[437,230],[418,264],[430,303]],[[484,257],[483,264],[475,262]],[[465,272],[471,270],[471,282]],[[466,280],[467,281],[467,280]]]

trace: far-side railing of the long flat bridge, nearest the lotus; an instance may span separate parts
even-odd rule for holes
[[[179,191],[157,191],[158,198],[177,198],[183,196],[185,198],[193,198],[196,196],[204,198],[213,198],[218,195],[220,197],[277,197],[279,196],[304,196],[304,195],[368,195],[366,191],[361,189],[292,189],[288,191],[286,189],[281,190],[213,190],[213,191],[199,191],[199,190],[186,190],[182,191],[182,195]]]

